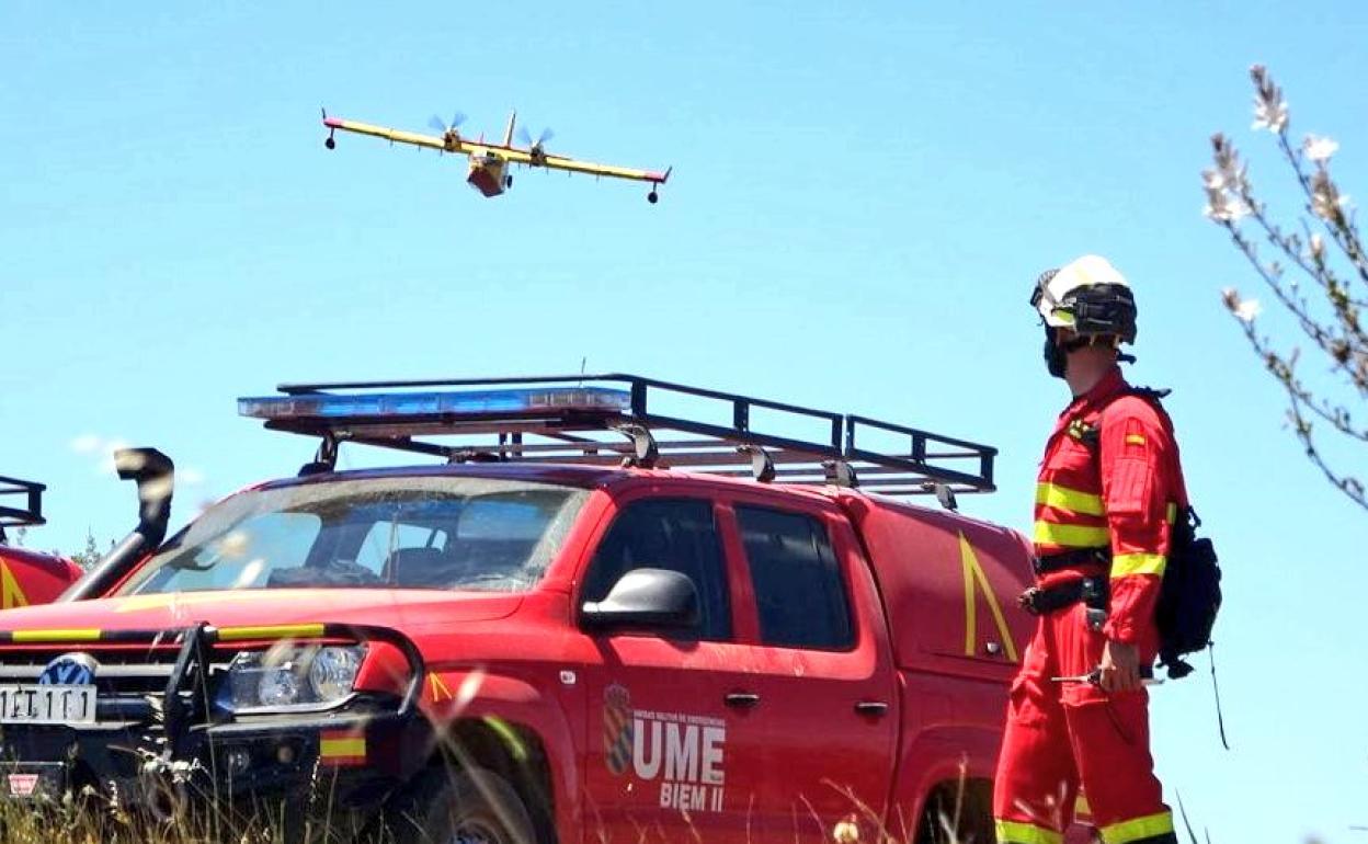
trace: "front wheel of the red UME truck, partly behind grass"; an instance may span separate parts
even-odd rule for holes
[[[415,844],[536,844],[517,792],[482,767],[423,773],[389,813],[394,841]]]

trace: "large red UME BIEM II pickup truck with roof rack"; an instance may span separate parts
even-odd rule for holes
[[[319,439],[297,477],[163,542],[170,461],[124,454],[138,531],[0,616],[0,791],[280,799],[291,840],[992,840],[1030,550],[900,497],[992,490],[993,449],[636,376],[282,391],[239,412]]]

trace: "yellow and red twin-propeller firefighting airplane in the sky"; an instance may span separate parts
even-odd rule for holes
[[[517,123],[516,111],[512,116],[509,116],[509,127],[508,131],[503,133],[502,144],[486,142],[484,135],[480,135],[479,141],[469,141],[461,137],[458,127],[464,120],[465,115],[460,112],[451,118],[450,123],[445,123],[442,118],[434,116],[428,124],[434,130],[442,133],[440,137],[434,137],[402,131],[398,129],[387,129],[384,126],[371,126],[369,123],[357,123],[354,120],[330,118],[327,109],[324,109],[323,124],[328,127],[328,138],[323,142],[323,145],[328,149],[335,149],[337,141],[332,135],[341,129],[342,131],[354,131],[363,135],[386,138],[391,144],[412,144],[413,146],[425,146],[438,152],[461,153],[471,161],[471,170],[466,174],[465,181],[471,183],[471,187],[479,190],[486,197],[497,197],[509,187],[513,187],[513,175],[509,172],[509,164],[524,164],[527,167],[544,167],[547,170],[584,172],[594,176],[650,182],[651,192],[646,194],[646,200],[654,205],[661,198],[658,193],[659,186],[670,178],[670,170],[673,170],[670,168],[665,172],[651,172],[647,170],[632,170],[629,167],[614,167],[611,164],[592,164],[590,161],[580,161],[566,156],[550,155],[546,152],[546,142],[551,140],[550,129],[543,131],[535,141],[524,129],[518,134],[518,140],[523,141],[525,146],[514,146],[513,129],[514,123]]]

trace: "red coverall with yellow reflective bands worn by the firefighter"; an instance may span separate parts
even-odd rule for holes
[[[1096,669],[1108,637],[1134,644],[1142,666],[1159,651],[1155,605],[1186,494],[1167,419],[1126,390],[1114,368],[1060,413],[1045,445],[1036,554],[1109,547],[1111,606],[1100,632],[1089,629],[1081,602],[1040,617],[1012,681],[997,762],[999,844],[1059,844],[1079,785],[1105,844],[1176,844],[1149,755],[1145,689],[1108,695],[1090,683],[1051,680]],[[1105,566],[1067,566],[1037,585],[1104,576]]]

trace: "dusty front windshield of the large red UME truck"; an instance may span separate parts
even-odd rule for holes
[[[120,595],[291,587],[535,584],[587,492],[471,477],[356,479],[239,492],[205,510]]]

